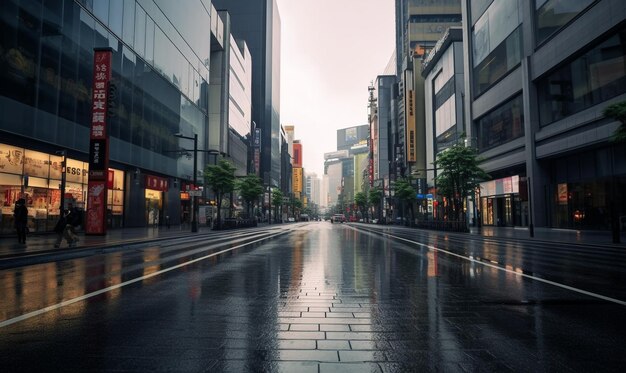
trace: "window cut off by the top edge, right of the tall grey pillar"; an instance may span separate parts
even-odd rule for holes
[[[537,44],[567,25],[595,0],[537,0],[535,3]]]

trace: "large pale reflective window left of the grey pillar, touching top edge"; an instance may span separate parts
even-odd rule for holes
[[[472,30],[474,93],[479,95],[522,59],[519,1],[495,1]]]

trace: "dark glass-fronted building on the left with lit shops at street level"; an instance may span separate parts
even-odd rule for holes
[[[15,154],[15,149],[25,155],[39,152],[32,159],[47,164],[49,171],[47,184],[37,180],[37,187],[56,190],[46,192],[43,209],[47,214],[58,209],[55,196],[61,193],[54,166],[59,162],[55,152],[66,150],[72,162],[87,160],[96,47],[110,47],[113,52],[115,89],[108,118],[110,160],[118,181],[124,180],[117,189],[122,195],[113,191],[115,195],[110,195],[115,207],[111,205],[109,210],[118,221],[110,225],[147,223],[143,212],[135,216],[136,206],[128,201],[129,193],[143,195],[149,190],[144,182],[148,179],[144,177],[152,175],[170,180],[171,187],[180,185],[171,180],[191,179],[192,157],[180,157],[177,150],[190,149],[193,144],[173,134],[197,134],[199,149],[206,141],[210,31],[198,32],[197,25],[210,24],[210,9],[210,3],[204,0],[187,1],[184,6],[167,0],[2,3],[2,152],[3,155]],[[24,162],[28,159],[26,156]],[[198,154],[198,164],[201,169],[202,153]],[[24,163],[21,171],[19,167],[0,169],[0,187],[15,187],[15,182],[21,179],[19,186],[24,188],[26,167]],[[86,170],[84,164],[76,168]],[[68,161],[68,182],[71,169]],[[130,182],[129,175],[134,175],[136,182]],[[72,187],[66,186],[66,195],[78,197],[80,193],[68,192]],[[7,198],[10,194],[3,196],[3,222],[7,221],[4,218],[10,219],[5,214],[12,203]],[[31,194],[34,196],[35,192]],[[158,193],[145,192],[148,194],[150,199],[159,199],[158,216],[174,215],[173,211],[180,209],[177,193],[168,193],[167,188]],[[146,211],[148,205],[146,202]],[[34,214],[41,206],[28,207]],[[176,222],[177,217],[172,216],[171,221]],[[6,233],[4,228],[2,233]]]

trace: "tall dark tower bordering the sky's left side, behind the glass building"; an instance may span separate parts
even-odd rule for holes
[[[214,0],[252,56],[252,120],[261,129],[260,175],[281,185],[280,14],[276,0]]]

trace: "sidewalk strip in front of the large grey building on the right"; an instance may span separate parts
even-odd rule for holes
[[[610,231],[583,231],[572,229],[535,228],[534,237],[530,237],[528,228],[522,227],[470,227],[470,234],[483,237],[525,239],[576,244],[615,246],[626,248],[626,232],[621,234],[621,243],[613,243]]]

